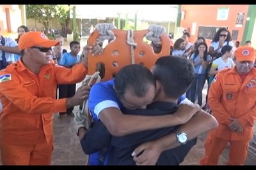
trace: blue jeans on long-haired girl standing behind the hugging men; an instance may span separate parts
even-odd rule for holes
[[[206,74],[195,74],[195,80],[191,85],[191,102],[195,103],[195,96],[197,92],[197,103],[202,106],[202,90],[204,89]]]

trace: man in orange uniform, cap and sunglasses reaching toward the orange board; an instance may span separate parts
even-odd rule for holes
[[[53,149],[52,114],[79,105],[90,87],[56,99],[56,85],[78,83],[87,74],[87,57],[66,69],[51,61],[49,40],[42,32],[20,37],[21,59],[0,71],[0,150],[3,165],[49,165]],[[88,49],[91,48],[88,46]]]

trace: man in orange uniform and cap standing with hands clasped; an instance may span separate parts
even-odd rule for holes
[[[256,119],[255,49],[239,46],[234,52],[236,66],[219,71],[209,89],[209,105],[219,122],[205,141],[201,165],[216,165],[230,143],[228,165],[243,165]]]

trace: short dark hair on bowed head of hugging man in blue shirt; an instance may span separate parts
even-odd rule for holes
[[[156,85],[151,71],[141,64],[122,67],[115,76],[115,92],[123,99],[127,90],[131,89],[135,96],[144,97],[150,85]]]

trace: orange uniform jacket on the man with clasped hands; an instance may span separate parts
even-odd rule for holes
[[[222,139],[250,141],[256,118],[256,69],[253,67],[242,82],[236,67],[218,72],[211,83],[209,105],[219,127],[211,134]],[[243,125],[243,132],[232,132],[228,125],[237,118]]]

